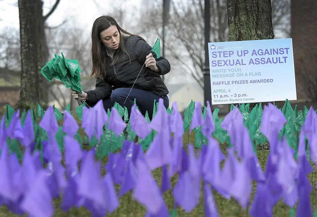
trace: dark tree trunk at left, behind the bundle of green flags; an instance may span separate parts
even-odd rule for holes
[[[21,92],[16,108],[30,109],[42,102],[41,0],[18,0],[21,41]]]

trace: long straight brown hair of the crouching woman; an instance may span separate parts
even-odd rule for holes
[[[129,56],[128,52],[126,51],[126,47],[124,46],[123,40],[122,40],[122,38],[123,38],[122,33],[124,33],[126,35],[135,35],[135,34],[131,34],[131,33],[127,32],[126,30],[122,29],[118,25],[117,21],[111,16],[98,17],[94,21],[93,28],[91,30],[91,40],[92,40],[91,57],[92,57],[92,62],[93,62],[93,67],[92,67],[91,74],[90,74],[91,77],[100,78],[100,79],[104,79],[106,77],[106,52],[107,51],[106,51],[106,48],[104,47],[104,45],[101,43],[100,33],[112,25],[117,27],[117,29],[119,30],[119,35],[120,35],[119,48],[118,48],[117,54],[113,55],[112,64],[115,64],[118,61],[118,59],[119,59],[118,54],[120,52],[124,52],[126,55]],[[140,38],[143,39],[142,37],[140,37]],[[129,56],[129,58],[130,58],[130,56]]]

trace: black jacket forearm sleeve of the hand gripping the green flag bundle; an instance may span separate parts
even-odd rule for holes
[[[100,99],[107,99],[112,93],[112,86],[103,79],[96,79],[96,89],[86,91],[88,94],[87,104],[96,104]]]

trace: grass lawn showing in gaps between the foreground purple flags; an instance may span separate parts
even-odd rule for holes
[[[81,130],[82,132],[82,130]],[[83,136],[83,133],[82,133]],[[184,136],[184,146],[186,147],[186,145],[188,143],[192,143],[194,140],[194,136],[193,135],[189,135],[188,133],[185,134]],[[88,145],[84,146],[85,149],[90,149],[90,147]],[[221,149],[223,151],[224,154],[226,154],[226,145],[221,145]],[[268,154],[269,151],[259,151],[257,156],[258,159],[260,161],[260,164],[264,170],[265,165],[266,165],[266,161],[268,158]],[[107,156],[105,156],[102,159],[102,167],[107,163]],[[106,173],[106,171],[103,169],[103,173]],[[153,175],[156,178],[156,180],[158,181],[158,183],[160,184],[160,180],[161,180],[161,175],[162,172],[160,169],[157,169],[155,171],[153,171]],[[317,182],[317,170],[316,167],[314,166],[314,172],[311,173],[309,175],[309,180],[311,182],[311,184],[313,185],[314,189],[312,191],[311,194],[311,198],[312,198],[312,205],[313,208],[316,207],[317,205],[317,190],[316,190],[316,182]],[[172,182],[172,186],[174,186],[177,182],[177,175],[175,177],[173,177],[171,179]],[[201,185],[202,187],[202,193],[201,193],[201,198],[200,198],[200,203],[198,204],[198,206],[190,213],[190,214],[186,214],[184,212],[184,210],[182,210],[181,208],[178,208],[178,216],[190,216],[190,217],[198,217],[198,216],[204,216],[204,192],[203,192],[203,185]],[[256,183],[254,183],[254,188],[253,188],[253,193],[254,194],[256,189]],[[119,190],[119,186],[118,186],[118,190]],[[247,214],[246,210],[243,210],[242,208],[240,208],[239,204],[231,199],[231,200],[226,200],[224,199],[222,196],[220,196],[219,194],[217,194],[216,192],[214,192],[214,196],[215,196],[215,200],[217,203],[217,208],[219,211],[220,216],[222,217],[245,217],[245,216],[249,216]],[[171,190],[165,192],[164,194],[164,198],[165,198],[165,202],[168,206],[169,209],[172,209],[174,206],[174,200],[173,200],[173,196],[171,193]],[[54,201],[55,203],[55,217],[88,217],[91,216],[91,214],[85,210],[84,208],[81,209],[72,209],[69,212],[65,213],[63,211],[61,211],[61,209],[59,208],[61,205],[61,200],[56,199]],[[133,217],[143,217],[145,215],[145,208],[143,208],[141,205],[139,205],[136,201],[134,201],[131,197],[131,192],[124,195],[123,197],[120,198],[120,207],[111,215],[111,217],[128,217],[128,216],[133,216]],[[8,209],[6,207],[1,207],[0,208],[0,217],[15,217],[18,215],[12,214],[10,213],[10,211],[8,211]],[[287,205],[285,205],[283,202],[279,202],[275,208],[274,208],[274,216],[275,217],[288,217],[289,216],[289,208]]]

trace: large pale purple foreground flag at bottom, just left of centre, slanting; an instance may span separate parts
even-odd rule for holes
[[[150,213],[157,214],[164,205],[163,196],[141,152],[139,152],[135,164],[138,177],[132,196],[135,200],[144,205]]]

